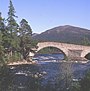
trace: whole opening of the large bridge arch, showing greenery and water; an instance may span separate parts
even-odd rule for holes
[[[57,47],[44,47],[40,49],[34,56],[34,58],[39,58],[38,60],[64,60],[66,58],[66,54]]]

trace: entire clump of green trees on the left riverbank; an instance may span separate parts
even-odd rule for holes
[[[27,58],[37,42],[32,39],[32,29],[25,19],[19,24],[16,22],[15,9],[10,0],[8,18],[5,20],[0,13],[0,63],[5,64],[12,61]]]

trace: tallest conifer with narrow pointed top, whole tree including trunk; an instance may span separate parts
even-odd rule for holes
[[[15,18],[15,9],[10,0],[8,18],[7,18],[7,40],[6,41],[6,48],[9,51],[9,55],[12,56],[14,52],[16,52],[19,48],[19,38],[18,38],[18,24],[16,23]]]

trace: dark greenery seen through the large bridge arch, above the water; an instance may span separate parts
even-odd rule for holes
[[[64,55],[64,59],[66,59],[66,54],[63,52],[63,50],[57,48],[57,47],[53,47],[53,46],[47,46],[47,47],[43,47],[40,50],[38,50],[34,56],[38,55],[38,54],[63,54]]]

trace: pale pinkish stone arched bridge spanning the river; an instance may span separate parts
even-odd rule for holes
[[[45,47],[56,47],[67,57],[85,57],[90,53],[90,46],[67,44],[60,42],[40,42],[37,44],[37,52]]]

